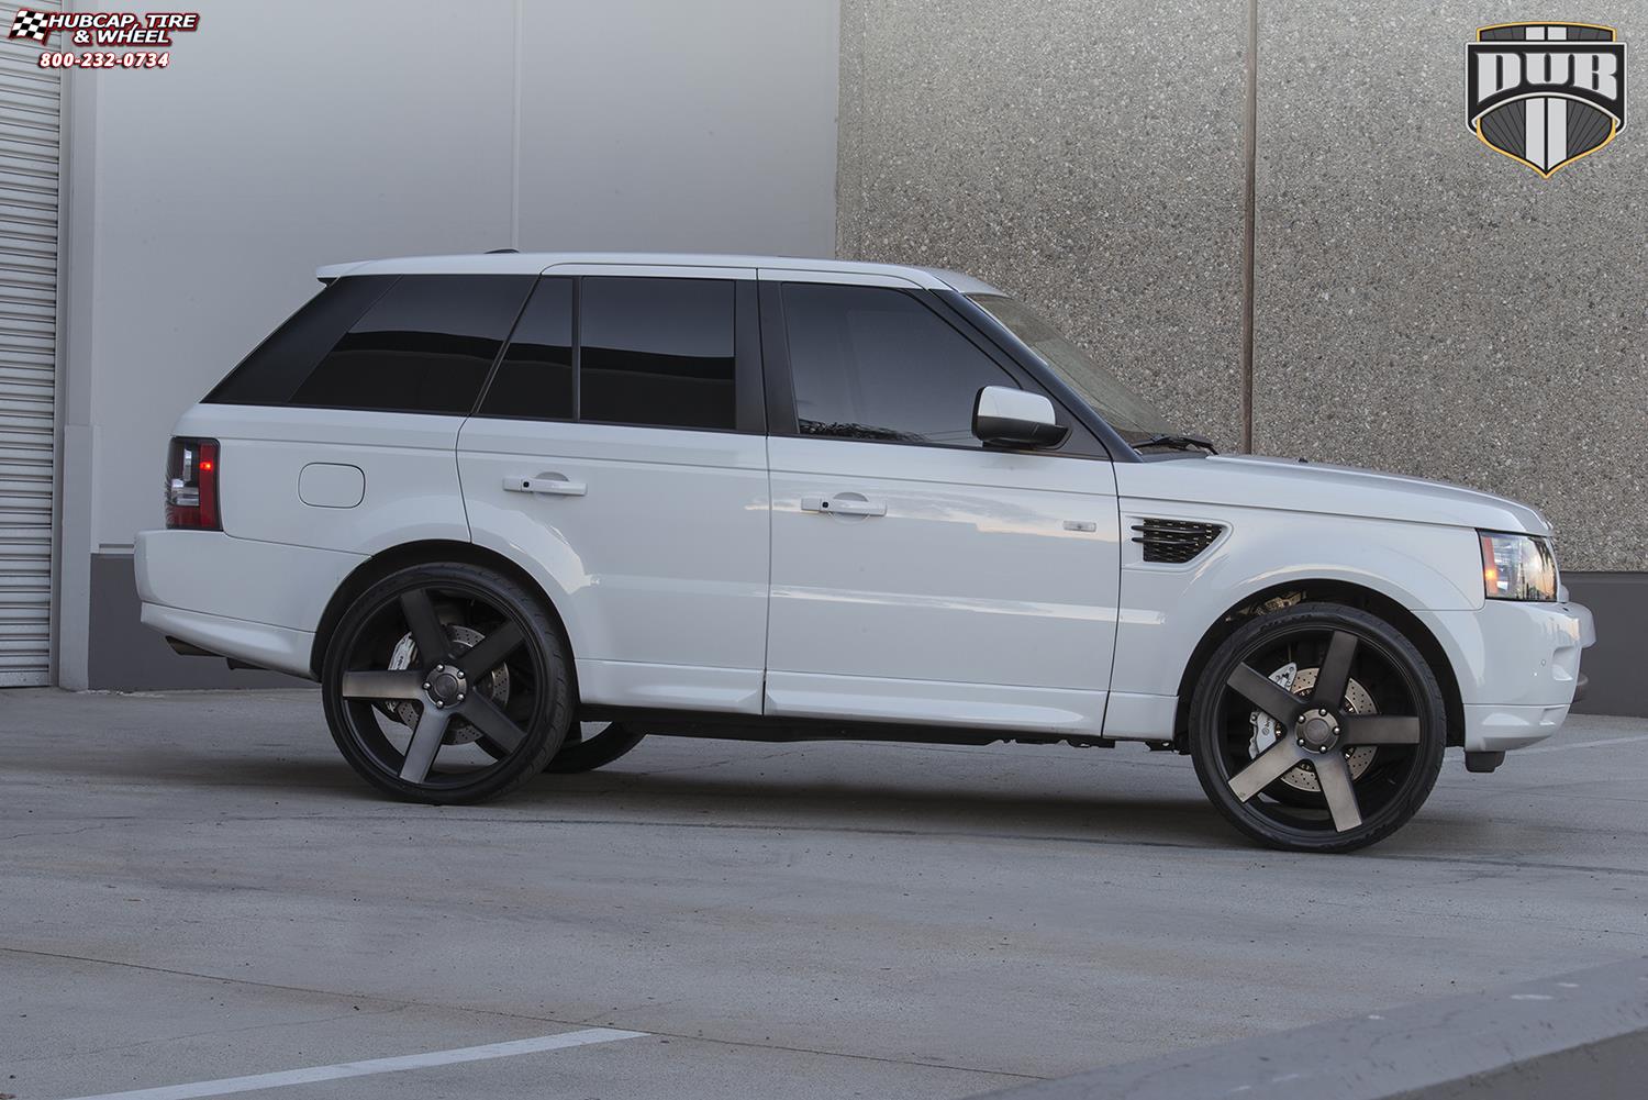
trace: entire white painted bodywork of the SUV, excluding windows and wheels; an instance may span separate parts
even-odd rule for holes
[[[344,272],[587,272],[987,289],[781,257],[511,254]],[[1477,529],[1549,534],[1458,487],[1248,457],[1109,463],[735,432],[196,406],[222,444],[222,533],[137,541],[143,622],[311,675],[374,554],[475,543],[567,627],[585,703],[1117,739],[1172,737],[1198,643],[1256,594],[1335,581],[1409,609],[1447,655],[1472,750],[1557,729],[1589,613],[1483,599]],[[349,472],[358,472],[349,473]],[[1142,518],[1215,523],[1145,562]]]

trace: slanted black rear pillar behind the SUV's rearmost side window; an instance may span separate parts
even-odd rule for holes
[[[206,394],[216,404],[285,404],[320,358],[392,287],[394,275],[339,279],[293,313]]]

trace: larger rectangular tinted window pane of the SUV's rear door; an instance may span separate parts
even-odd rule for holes
[[[737,425],[732,282],[585,279],[578,294],[580,421]]]

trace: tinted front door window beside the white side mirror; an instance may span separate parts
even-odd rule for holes
[[[972,402],[1014,378],[901,290],[784,284],[803,435],[979,447]]]

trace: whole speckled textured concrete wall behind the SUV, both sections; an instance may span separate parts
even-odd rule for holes
[[[1238,442],[1248,12],[845,0],[842,256],[974,270]],[[1648,0],[1604,15],[1648,41]],[[1528,500],[1564,567],[1638,571],[1648,122],[1551,180],[1485,148],[1465,43],[1516,18],[1257,2],[1254,449]]]

